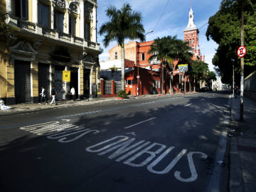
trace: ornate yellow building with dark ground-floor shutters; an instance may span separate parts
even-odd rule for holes
[[[3,2],[4,1],[4,2]],[[19,30],[0,38],[0,99],[38,102],[41,87],[58,99],[100,90],[97,0],[3,0],[6,23]],[[70,70],[70,82],[63,82]]]

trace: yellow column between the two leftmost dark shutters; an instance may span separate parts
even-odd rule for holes
[[[38,103],[38,60],[31,59],[31,102]]]

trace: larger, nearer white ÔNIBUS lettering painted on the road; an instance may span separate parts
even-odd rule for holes
[[[169,174],[171,170],[176,169],[175,166],[181,158],[187,156],[189,167],[188,171],[190,171],[191,177],[183,178],[182,176],[184,173],[175,170],[173,171],[174,177],[178,181],[182,182],[196,181],[198,178],[196,171],[196,165],[198,166],[198,162],[196,165],[194,164],[193,154],[200,154],[201,159],[207,159],[208,156],[201,151],[187,152],[187,149],[182,149],[177,154],[179,150],[177,151],[176,149],[172,151],[175,148],[175,146],[170,146],[166,149],[166,145],[164,144],[146,142],[145,140],[137,141],[137,139],[129,138],[127,136],[117,136],[107,139],[104,142],[88,146],[85,151],[97,153],[99,156],[107,154],[108,159],[115,159],[114,161],[121,162],[128,166],[146,166],[146,169],[152,174]],[[172,152],[171,156],[173,159],[170,159],[170,155],[167,156],[170,152]],[[166,164],[166,161],[171,162],[164,168],[163,164]],[[156,167],[156,169],[154,169],[154,167]],[[162,167],[162,171],[159,170],[160,167]],[[183,172],[186,173],[186,170],[183,170]]]

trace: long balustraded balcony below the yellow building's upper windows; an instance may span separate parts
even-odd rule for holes
[[[16,16],[13,16],[11,14],[8,15],[6,23],[11,24],[12,26],[17,26],[18,28],[21,28],[22,31],[34,33],[36,35],[43,36],[55,41],[57,40],[63,43],[70,43],[75,46],[90,48],[92,50],[100,50],[99,43],[87,41],[84,38],[79,38],[71,34],[63,33],[55,29],[48,28],[46,26],[41,26],[38,23],[36,24],[29,21],[24,21],[23,19],[17,18]]]

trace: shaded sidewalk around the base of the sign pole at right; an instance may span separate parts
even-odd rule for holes
[[[256,191],[256,102],[244,97],[244,121],[240,121],[240,97],[231,99],[230,191]]]

